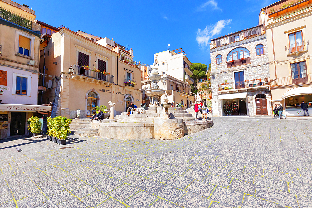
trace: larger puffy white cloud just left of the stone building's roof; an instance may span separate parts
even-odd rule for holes
[[[210,39],[214,35],[218,35],[221,33],[221,30],[228,25],[232,19],[227,20],[219,20],[214,25],[206,26],[205,29],[197,30],[196,41],[198,45],[207,46],[209,44]]]

